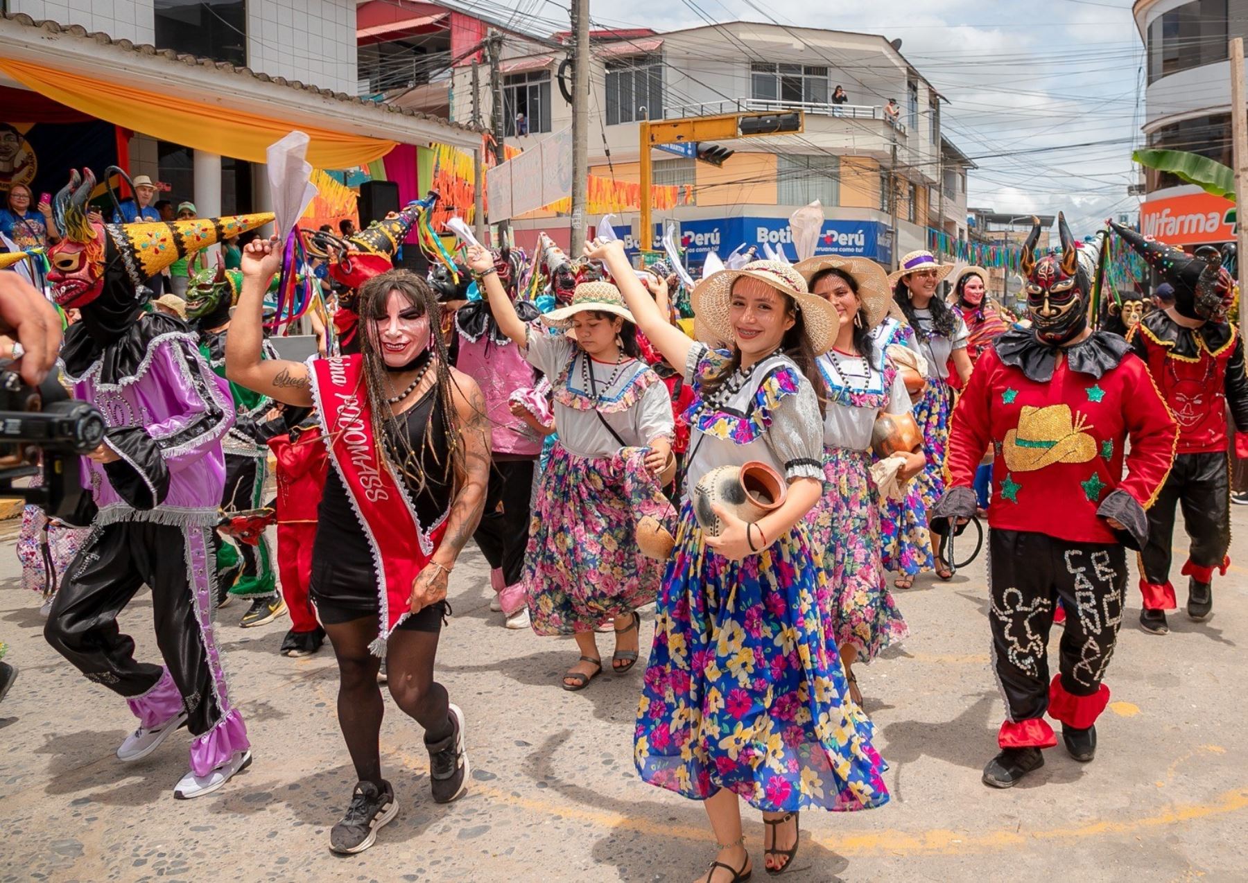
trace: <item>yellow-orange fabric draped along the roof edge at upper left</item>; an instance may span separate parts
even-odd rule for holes
[[[344,135],[328,128],[187,101],[170,95],[69,74],[26,61],[0,59],[4,71],[21,85],[74,110],[162,141],[195,150],[265,162],[265,148],[292,128],[312,138],[307,161],[318,168],[364,166],[386,156],[394,141]]]

